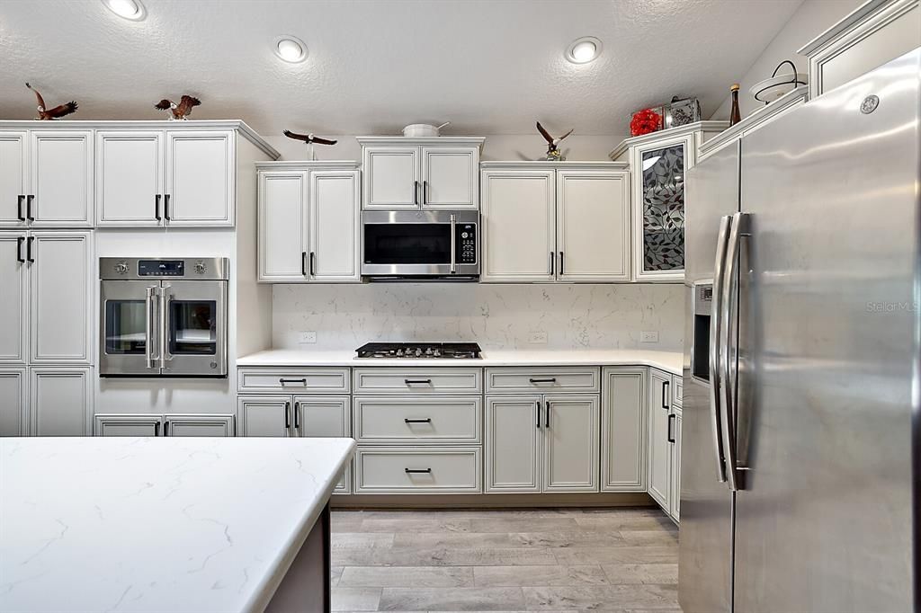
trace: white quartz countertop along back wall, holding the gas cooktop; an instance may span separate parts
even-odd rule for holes
[[[682,374],[680,352],[613,350],[486,351],[479,359],[358,358],[354,351],[270,349],[237,360],[238,366],[655,366]]]

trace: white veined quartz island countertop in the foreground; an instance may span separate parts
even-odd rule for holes
[[[354,448],[0,439],[0,610],[262,611]]]

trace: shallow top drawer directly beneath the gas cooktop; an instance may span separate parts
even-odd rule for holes
[[[356,394],[479,394],[479,368],[356,368]]]

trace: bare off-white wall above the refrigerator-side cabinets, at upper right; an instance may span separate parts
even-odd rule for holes
[[[806,58],[798,55],[797,51],[863,3],[864,0],[806,0],[803,2],[787,24],[777,32],[774,40],[771,40],[764,52],[754,61],[748,72],[741,77],[739,109],[742,117],[762,106],[761,102],[752,98],[749,93],[750,87],[771,76],[777,64],[784,60],[791,60],[796,64],[798,73],[807,73]],[[782,73],[789,72],[789,66],[782,68],[781,71]],[[726,85],[727,90],[729,90],[729,85],[731,84]],[[712,119],[729,119],[730,108],[731,102],[727,96],[717,112],[713,114]]]

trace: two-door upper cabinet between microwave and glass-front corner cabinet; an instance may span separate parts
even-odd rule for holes
[[[626,165],[488,162],[483,168],[482,281],[630,280]]]

